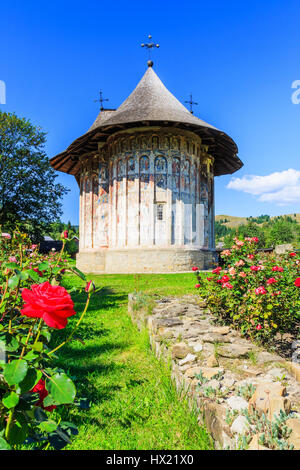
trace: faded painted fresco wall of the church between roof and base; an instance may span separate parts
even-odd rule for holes
[[[206,149],[205,149],[206,150]],[[182,130],[111,136],[82,158],[80,249],[214,247],[212,159]]]

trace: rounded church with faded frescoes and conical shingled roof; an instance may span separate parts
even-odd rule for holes
[[[77,267],[89,273],[209,269],[214,177],[242,167],[235,142],[194,116],[153,70],[50,160],[80,187]]]

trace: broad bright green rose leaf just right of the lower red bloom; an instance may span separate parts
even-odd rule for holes
[[[47,379],[46,389],[49,395],[44,400],[44,406],[73,403],[76,395],[75,385],[65,373],[56,373]]]

